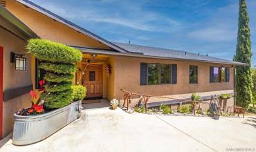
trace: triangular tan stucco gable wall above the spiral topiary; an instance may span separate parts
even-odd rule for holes
[[[62,23],[54,21],[40,12],[26,8],[15,0],[6,1],[6,8],[42,39],[50,39],[71,46],[109,48],[99,41],[91,39],[77,32],[77,30],[73,30]]]

